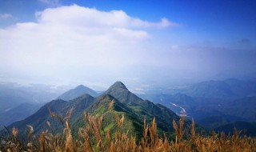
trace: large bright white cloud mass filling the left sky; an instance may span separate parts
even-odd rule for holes
[[[110,78],[126,66],[145,62],[149,27],[174,26],[166,18],[148,22],[122,10],[77,5],[46,9],[36,18],[38,22],[0,29],[2,71],[56,79],[94,79],[101,74]]]

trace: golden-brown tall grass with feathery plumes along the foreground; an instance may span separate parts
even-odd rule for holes
[[[0,151],[256,151],[255,138],[241,137],[238,131],[234,131],[232,136],[213,133],[203,137],[195,133],[194,122],[190,129],[184,129],[184,118],[181,118],[178,124],[173,121],[176,134],[174,141],[168,140],[166,136],[159,136],[155,119],[150,125],[146,124],[144,119],[143,137],[136,140],[129,131],[123,130],[124,114],[115,114],[118,127],[114,133],[110,133],[110,130],[104,130],[102,127],[102,115],[85,113],[86,125],[79,128],[78,138],[74,138],[70,129],[72,111],[73,108],[67,112],[65,121],[62,120],[66,122],[62,134],[54,134],[50,122],[47,122],[49,130],[42,131],[39,135],[34,135],[33,126],[28,125],[26,139],[18,129],[6,129],[9,135],[0,137]],[[50,111],[50,115],[54,118],[55,114]]]

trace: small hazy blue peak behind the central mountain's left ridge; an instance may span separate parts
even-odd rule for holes
[[[79,86],[75,87],[74,89],[66,91],[65,93],[60,95],[58,97],[58,99],[69,101],[74,98],[78,98],[82,94],[90,94],[93,97],[96,97],[98,95],[97,92],[95,92],[94,90],[92,90],[86,86],[79,85]]]

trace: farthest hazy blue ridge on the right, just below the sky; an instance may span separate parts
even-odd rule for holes
[[[225,81],[199,82],[183,87],[174,87],[165,90],[166,94],[182,93],[198,98],[243,98],[255,96],[256,81],[242,81],[227,79]]]

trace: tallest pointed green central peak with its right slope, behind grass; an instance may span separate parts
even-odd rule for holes
[[[111,110],[108,110],[110,102],[114,101]],[[87,110],[89,114],[103,116],[102,126],[104,130],[116,130],[115,114],[120,117],[125,116],[125,131],[129,130],[130,134],[136,134],[137,138],[142,136],[143,120],[151,122],[156,119],[159,132],[166,132],[171,137],[174,133],[172,120],[178,121],[179,116],[173,111],[160,104],[154,104],[148,100],[143,100],[130,90],[122,82],[115,82],[105,93],[95,99],[94,104]],[[77,118],[74,124],[84,124],[83,115]],[[190,125],[190,121],[185,121],[185,126]],[[81,125],[82,126],[82,125]],[[199,127],[197,126],[197,129]],[[172,137],[174,138],[174,137]]]

